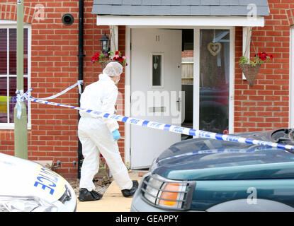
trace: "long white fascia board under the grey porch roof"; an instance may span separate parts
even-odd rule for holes
[[[99,16],[97,25],[129,26],[230,26],[264,27],[264,17],[256,16]]]

